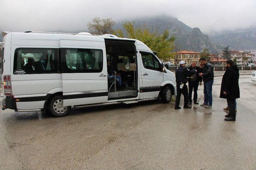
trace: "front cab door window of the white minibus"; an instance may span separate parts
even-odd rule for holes
[[[160,71],[161,65],[151,53],[140,52],[144,68]]]

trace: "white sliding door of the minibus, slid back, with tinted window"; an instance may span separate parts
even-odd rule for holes
[[[63,105],[108,101],[104,42],[60,40]]]

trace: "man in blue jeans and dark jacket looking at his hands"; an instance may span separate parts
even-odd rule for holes
[[[212,84],[214,78],[213,66],[206,61],[206,59],[201,58],[200,64],[203,66],[202,72],[199,76],[203,77],[204,81],[204,103],[200,106],[204,106],[206,108],[212,107]]]

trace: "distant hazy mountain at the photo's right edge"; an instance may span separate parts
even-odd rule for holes
[[[256,27],[214,33],[210,38],[222,46],[229,45],[231,50],[256,51]]]

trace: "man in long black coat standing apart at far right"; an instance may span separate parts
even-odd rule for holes
[[[226,72],[223,75],[220,89],[220,98],[227,99],[229,113],[225,115],[225,121],[236,121],[235,99],[240,98],[239,69],[232,60],[226,62]]]

